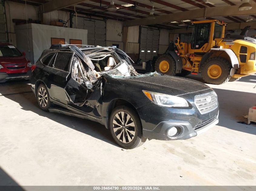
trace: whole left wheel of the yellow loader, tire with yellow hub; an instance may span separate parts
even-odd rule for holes
[[[155,70],[162,74],[172,75],[176,74],[176,63],[171,55],[163,54],[155,61]]]

